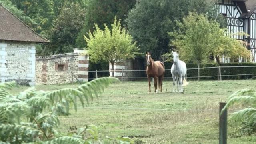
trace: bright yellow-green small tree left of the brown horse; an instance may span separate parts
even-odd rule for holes
[[[138,54],[138,48],[133,43],[130,36],[124,28],[121,27],[121,20],[117,22],[116,17],[114,23],[111,24],[110,30],[105,24],[105,29],[101,30],[95,24],[96,30],[89,32],[89,36],[85,36],[87,42],[88,53],[93,62],[101,60],[110,62],[112,70],[114,70],[115,62],[121,62],[128,58],[134,58]],[[114,76],[114,72],[112,72]]]

